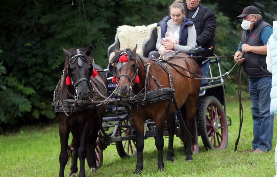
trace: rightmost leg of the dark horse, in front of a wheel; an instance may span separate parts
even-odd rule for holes
[[[93,128],[90,133],[90,138],[89,138],[89,148],[90,148],[90,172],[97,171],[97,166],[96,166],[96,160],[95,160],[95,141],[97,139],[97,133],[99,131],[99,126],[98,122],[93,123]]]

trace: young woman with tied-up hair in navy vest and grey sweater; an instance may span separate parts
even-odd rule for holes
[[[149,53],[148,58],[159,58],[167,51],[183,51],[189,54],[189,50],[195,47],[196,30],[193,22],[185,17],[184,6],[182,0],[176,0],[169,6],[170,16],[164,17],[157,26],[161,26],[158,32],[156,42],[156,50]],[[175,39],[165,40],[166,34]],[[176,42],[177,41],[177,42]],[[179,41],[179,42],[178,42]]]

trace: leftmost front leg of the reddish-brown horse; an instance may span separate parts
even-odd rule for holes
[[[136,149],[137,149],[137,163],[136,170],[133,174],[141,173],[143,169],[143,148],[144,148],[144,123],[145,120],[133,115],[133,123],[136,128]]]

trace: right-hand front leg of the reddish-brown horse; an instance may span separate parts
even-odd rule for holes
[[[163,148],[164,148],[164,121],[165,118],[156,119],[155,145],[158,150],[158,171],[164,171]]]

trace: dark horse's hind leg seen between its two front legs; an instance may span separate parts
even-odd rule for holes
[[[75,176],[75,174],[78,172],[78,148],[80,146],[80,133],[78,129],[71,130],[73,139],[73,159],[72,159],[72,165],[70,168],[70,174],[69,176]]]

